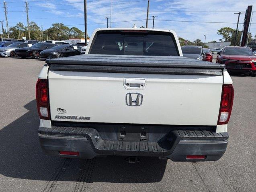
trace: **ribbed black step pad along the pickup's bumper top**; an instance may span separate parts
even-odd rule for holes
[[[166,138],[158,142],[144,141],[111,141],[103,140],[94,128],[81,127],[52,127],[39,128],[39,137],[46,136],[79,136],[90,142],[96,154],[106,155],[142,155],[142,156],[168,156],[172,154],[180,140],[227,140],[227,132],[216,133],[206,130],[173,130]]]

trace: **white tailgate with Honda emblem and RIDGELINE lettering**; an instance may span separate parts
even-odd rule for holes
[[[48,79],[51,120],[131,124],[216,125],[223,84],[222,75],[63,70]]]

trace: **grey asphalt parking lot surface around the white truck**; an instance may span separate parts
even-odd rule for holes
[[[217,162],[123,157],[61,159],[43,154],[35,83],[45,62],[0,58],[0,192],[256,191],[256,77],[232,76],[227,151]]]

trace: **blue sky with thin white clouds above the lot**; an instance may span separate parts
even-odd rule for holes
[[[0,0],[0,20],[5,20],[4,3]],[[43,25],[43,30],[53,23],[63,23],[84,31],[83,0],[28,0],[29,20]],[[9,27],[18,22],[27,25],[25,0],[6,0]],[[236,29],[238,14],[245,12],[248,5],[255,11],[250,32],[256,35],[256,0],[150,0],[149,16],[158,16],[154,28],[174,30],[178,37],[203,42],[219,41],[217,30],[222,27]],[[111,16],[112,27],[145,26],[147,0],[87,0],[88,35],[96,28],[106,28],[105,17]],[[148,28],[152,28],[149,17]],[[188,22],[190,21],[190,22]],[[208,23],[204,23],[208,22]],[[212,23],[213,22],[213,23]],[[215,23],[225,22],[225,23]],[[244,14],[240,16],[239,30],[242,30]],[[110,20],[109,20],[110,23]],[[110,24],[109,24],[110,25]],[[6,23],[4,22],[4,27]]]

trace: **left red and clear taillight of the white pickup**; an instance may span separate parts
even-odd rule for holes
[[[48,86],[46,79],[38,79],[36,85],[37,111],[40,119],[50,119]]]

